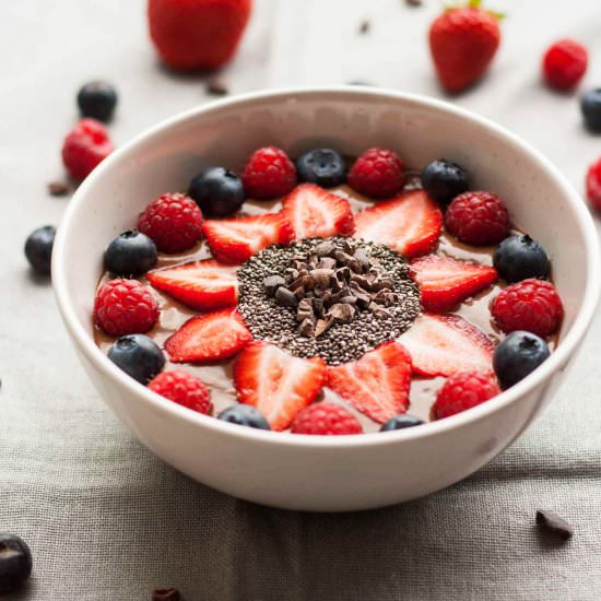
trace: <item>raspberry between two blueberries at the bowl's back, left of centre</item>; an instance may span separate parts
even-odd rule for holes
[[[278,198],[296,186],[296,168],[284,151],[266,146],[250,155],[241,178],[247,197]]]

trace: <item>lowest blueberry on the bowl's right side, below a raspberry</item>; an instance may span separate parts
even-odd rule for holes
[[[505,390],[519,382],[549,355],[549,346],[542,338],[521,330],[511,332],[493,355],[493,368],[500,387]]]

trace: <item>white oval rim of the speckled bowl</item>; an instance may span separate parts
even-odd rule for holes
[[[219,113],[221,109],[227,109],[236,105],[245,105],[254,102],[268,99],[286,99],[310,98],[318,99],[323,97],[325,101],[339,101],[344,96],[353,96],[355,98],[386,98],[388,101],[399,101],[404,104],[413,104],[415,106],[434,109],[439,113],[445,113],[452,117],[471,121],[478,126],[487,128],[497,137],[502,138],[506,143],[512,145],[518,151],[529,154],[539,164],[540,168],[547,176],[555,180],[559,192],[563,195],[567,205],[573,211],[576,222],[582,234],[586,259],[587,259],[587,285],[582,295],[582,305],[580,311],[567,332],[565,339],[551,354],[551,356],[532,374],[527,376],[516,386],[502,392],[498,397],[491,399],[486,403],[482,403],[470,411],[466,411],[445,420],[428,422],[423,426],[392,431],[387,433],[374,432],[364,433],[362,435],[342,435],[342,436],[318,436],[303,435],[295,436],[287,432],[271,432],[261,431],[250,427],[240,427],[235,424],[217,420],[216,417],[203,415],[187,408],[174,403],[156,392],[151,391],[146,387],[140,385],[133,378],[129,377],[125,372],[119,369],[95,344],[93,337],[80,323],[74,304],[70,297],[68,282],[66,276],[66,266],[69,260],[67,252],[69,244],[69,235],[73,228],[73,222],[79,212],[85,204],[86,196],[96,181],[102,177],[104,172],[114,163],[117,163],[129,155],[134,154],[139,144],[160,135],[170,128],[178,126],[187,120],[192,120],[199,116],[210,113]],[[240,439],[252,439],[256,443],[264,443],[271,445],[285,445],[299,448],[355,448],[365,446],[393,445],[402,440],[415,440],[421,438],[434,437],[439,434],[461,428],[467,424],[479,422],[490,415],[500,411],[505,406],[518,401],[522,396],[532,391],[537,386],[546,380],[553,373],[559,369],[569,356],[575,352],[577,345],[585,337],[588,327],[594,315],[598,305],[599,295],[601,293],[601,275],[600,275],[600,247],[594,228],[592,217],[576,189],[568,182],[566,177],[559,169],[545,158],[538,150],[531,146],[528,142],[520,139],[518,135],[507,130],[506,128],[491,121],[490,119],[458,107],[451,103],[440,101],[435,97],[424,96],[420,94],[398,92],[387,89],[375,89],[361,85],[337,85],[337,86],[311,86],[311,87],[281,87],[270,89],[260,92],[250,92],[236,95],[229,98],[213,101],[192,109],[179,113],[135,135],[132,140],[123,144],[121,148],[114,151],[103,163],[94,169],[94,172],[85,178],[78,188],[71,200],[67,211],[58,227],[54,252],[52,252],[52,286],[55,296],[62,316],[63,322],[71,338],[76,343],[79,350],[84,354],[87,361],[102,374],[105,378],[116,380],[131,394],[142,397],[151,403],[157,411],[181,419],[188,423],[195,424],[200,429],[210,428],[215,431],[215,434],[222,433],[226,436],[237,437]]]

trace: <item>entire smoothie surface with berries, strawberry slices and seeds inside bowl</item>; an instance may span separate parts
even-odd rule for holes
[[[563,306],[503,200],[446,160],[350,164],[262,146],[150,202],[105,252],[98,345],[158,402],[296,435],[446,419],[540,365]]]

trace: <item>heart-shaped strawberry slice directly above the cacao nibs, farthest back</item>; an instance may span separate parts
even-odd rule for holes
[[[355,229],[349,201],[315,184],[300,184],[283,200],[282,214],[297,240],[352,236]]]

